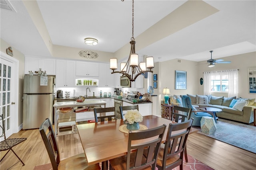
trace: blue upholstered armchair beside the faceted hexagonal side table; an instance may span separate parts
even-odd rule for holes
[[[194,112],[195,110],[194,110],[194,108],[193,108],[193,106],[191,104],[190,97],[188,97],[186,95],[183,95],[181,99],[182,99],[183,107],[187,107],[187,108],[192,109],[192,113],[191,113],[191,117],[190,118],[194,118],[194,121],[192,123],[193,126],[200,126],[200,121],[201,121],[203,116],[212,117],[212,115],[210,115],[207,112],[203,112],[203,111],[196,111],[196,112]]]

